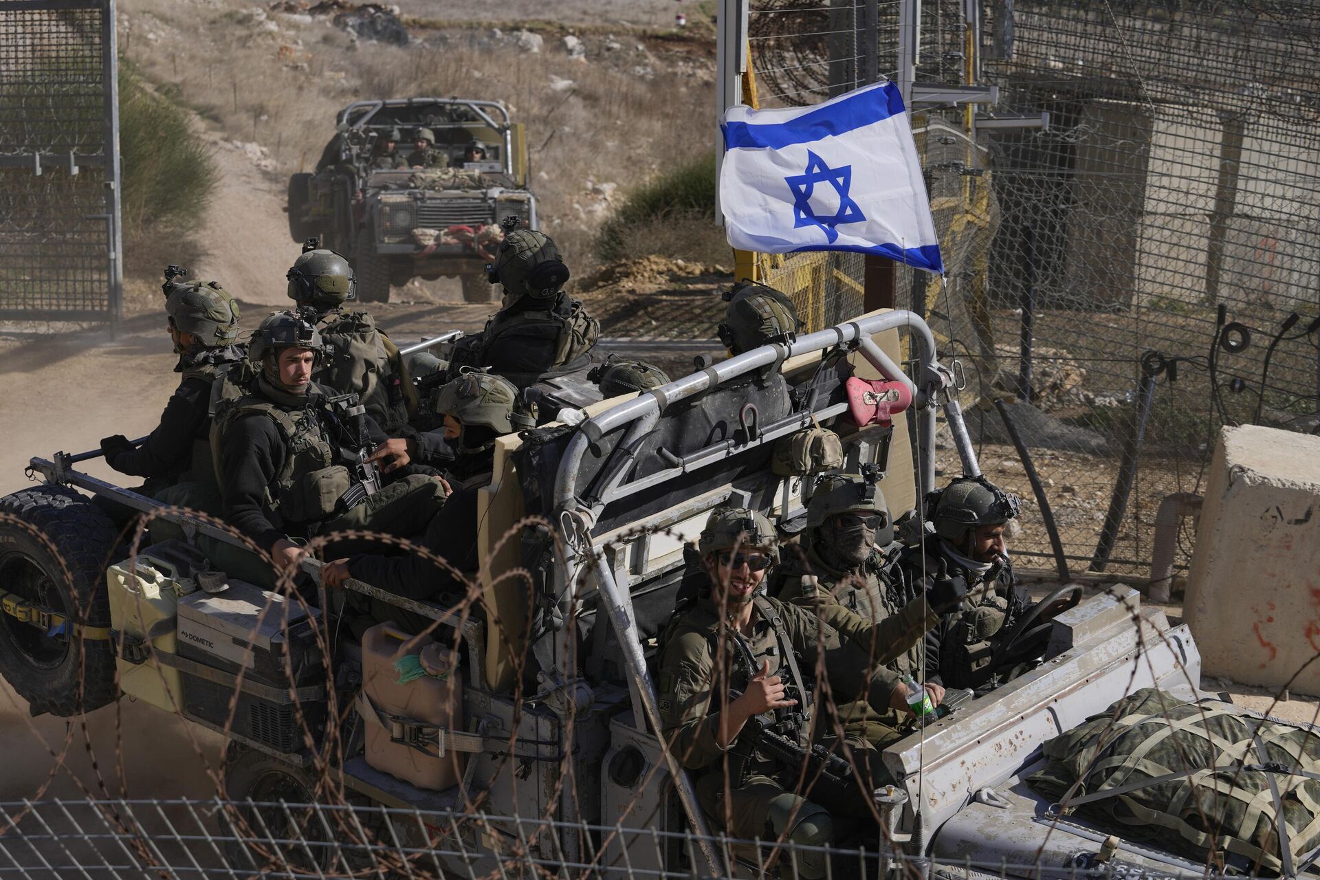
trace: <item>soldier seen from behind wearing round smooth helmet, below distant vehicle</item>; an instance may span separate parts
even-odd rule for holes
[[[337,394],[356,394],[385,434],[404,433],[417,412],[417,392],[399,348],[376,327],[371,313],[345,310],[345,302],[358,296],[348,260],[308,239],[285,277],[289,298],[317,314],[326,347],[317,384]]]

